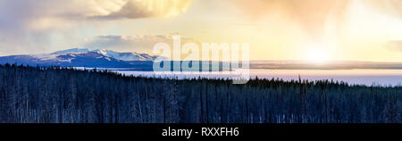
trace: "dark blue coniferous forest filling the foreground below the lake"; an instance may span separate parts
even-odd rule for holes
[[[402,122],[402,87],[331,80],[152,79],[0,65],[5,123]]]

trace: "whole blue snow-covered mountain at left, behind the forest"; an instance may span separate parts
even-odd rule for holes
[[[90,50],[72,48],[51,54],[21,54],[0,57],[0,64],[17,63],[25,65],[89,67],[89,68],[137,68],[152,69],[157,56],[138,53],[119,53],[112,50]]]

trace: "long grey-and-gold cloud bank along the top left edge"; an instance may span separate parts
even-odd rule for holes
[[[0,29],[57,29],[63,22],[166,17],[192,0],[0,0]],[[55,22],[55,23],[54,23]]]

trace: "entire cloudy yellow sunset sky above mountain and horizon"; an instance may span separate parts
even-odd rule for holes
[[[0,0],[0,55],[249,43],[251,60],[402,62],[400,0]]]

